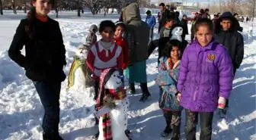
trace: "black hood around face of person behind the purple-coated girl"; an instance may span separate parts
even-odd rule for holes
[[[229,29],[229,32],[238,31],[239,29],[238,20],[236,20],[236,18],[232,15],[232,13],[230,13],[229,11],[226,11],[219,17],[218,20],[216,20],[214,33],[220,33],[220,31],[222,30],[222,26],[220,25],[220,22],[222,21],[222,19],[229,19],[232,21],[232,25]]]

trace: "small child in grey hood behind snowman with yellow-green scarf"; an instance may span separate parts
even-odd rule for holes
[[[97,42],[97,36],[96,33],[98,32],[98,26],[95,24],[92,24],[89,30],[89,34],[85,39],[85,44],[86,45],[94,45],[95,42]]]

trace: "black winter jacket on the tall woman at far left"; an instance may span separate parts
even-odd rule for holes
[[[26,76],[33,81],[56,81],[66,79],[63,66],[66,65],[66,49],[63,45],[59,23],[50,19],[46,23],[35,20],[34,38],[30,39],[25,33],[28,20],[21,20],[18,25],[11,46],[9,57],[24,67]],[[21,49],[25,45],[25,56]]]

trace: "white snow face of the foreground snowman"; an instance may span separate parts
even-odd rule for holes
[[[105,84],[105,89],[118,89],[120,86],[123,86],[123,82],[120,78],[119,71],[116,70]]]

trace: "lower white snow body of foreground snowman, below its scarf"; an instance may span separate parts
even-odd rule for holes
[[[129,108],[129,99],[126,97],[123,100],[115,101],[115,103],[117,107],[110,111],[113,140],[129,140],[125,133],[128,123],[127,112]],[[103,140],[102,117],[99,122],[99,130],[100,135],[98,140]]]

